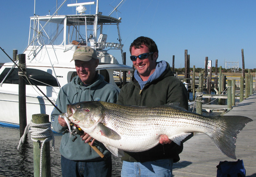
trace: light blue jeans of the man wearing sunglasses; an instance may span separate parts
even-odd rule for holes
[[[160,159],[149,162],[123,161],[121,177],[171,177],[173,159]]]

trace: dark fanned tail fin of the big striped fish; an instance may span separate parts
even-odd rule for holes
[[[237,159],[235,155],[237,134],[252,119],[245,116],[215,116],[214,118],[219,120],[219,125],[213,136],[210,136],[211,139],[223,154]]]

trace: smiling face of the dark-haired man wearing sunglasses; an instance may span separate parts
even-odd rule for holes
[[[139,49],[135,49],[135,47],[131,48],[132,56],[138,56],[140,54],[149,52],[149,48],[144,44],[142,44]],[[157,57],[158,53],[154,52],[154,54],[150,55],[148,58],[145,58],[144,60],[140,60],[139,58],[137,58],[136,61],[133,61],[134,68],[138,71],[142,81],[147,81],[149,76],[152,75],[156,70]]]

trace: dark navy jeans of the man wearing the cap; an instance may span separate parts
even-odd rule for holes
[[[61,156],[62,177],[111,177],[111,156],[106,161],[71,161]]]

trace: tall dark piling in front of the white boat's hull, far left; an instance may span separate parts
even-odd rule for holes
[[[26,115],[26,55],[19,54],[19,135],[22,137],[27,126]]]

